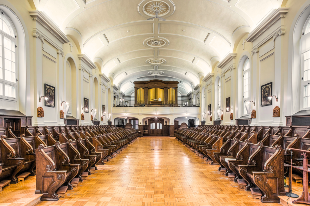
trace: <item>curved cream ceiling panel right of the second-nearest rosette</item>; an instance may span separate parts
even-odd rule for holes
[[[210,59],[212,57],[218,56],[218,54],[212,49],[210,49],[210,47],[206,46],[205,44],[201,44],[198,41],[192,41],[191,39],[188,38],[184,39],[172,36],[162,36],[162,37],[165,37],[170,41],[170,44],[167,47],[165,47],[165,49],[175,49],[184,51],[189,54],[196,55],[204,59],[208,63],[210,62]]]

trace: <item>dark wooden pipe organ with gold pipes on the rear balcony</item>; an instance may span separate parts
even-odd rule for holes
[[[134,82],[135,105],[177,105],[177,81],[150,80]]]

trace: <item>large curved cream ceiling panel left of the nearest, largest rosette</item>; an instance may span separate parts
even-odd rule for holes
[[[115,25],[146,20],[137,11],[140,1],[113,0],[96,4],[76,15],[66,27],[77,29],[86,41],[95,33]]]

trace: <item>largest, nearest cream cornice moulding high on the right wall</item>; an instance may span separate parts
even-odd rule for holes
[[[266,19],[260,23],[246,38],[246,41],[253,42],[265,31],[268,30],[273,24],[275,24],[281,18],[284,18],[289,8],[278,8],[274,10]]]

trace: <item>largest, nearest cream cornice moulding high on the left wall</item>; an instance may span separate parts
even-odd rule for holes
[[[29,15],[38,24],[41,24],[47,29],[56,39],[58,39],[62,44],[69,43],[67,36],[40,11],[29,11]]]

